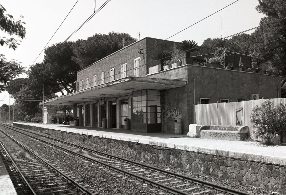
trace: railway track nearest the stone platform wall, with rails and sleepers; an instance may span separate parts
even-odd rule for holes
[[[1,124],[4,126],[3,124]],[[72,153],[95,162],[101,166],[114,170],[120,174],[131,176],[139,180],[138,184],[142,182],[150,184],[156,188],[165,190],[171,194],[184,194],[184,195],[251,195],[246,192],[241,192],[231,188],[223,187],[217,184],[212,184],[195,178],[190,178],[167,170],[158,169],[152,166],[147,166],[138,162],[126,160],[117,156],[77,146],[68,142],[50,138],[39,133],[30,132],[21,128],[15,128],[5,125],[6,128],[25,134],[40,142],[44,142],[60,150]],[[151,190],[155,190],[151,189]]]

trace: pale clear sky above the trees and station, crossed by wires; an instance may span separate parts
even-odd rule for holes
[[[1,1],[1,5],[7,10],[5,14],[11,14],[15,19],[19,19],[20,15],[24,16],[21,20],[26,23],[24,27],[27,34],[15,51],[0,46],[0,53],[4,54],[7,60],[17,59],[27,68],[34,61],[34,63],[43,61],[44,52],[41,51],[76,1]],[[106,0],[78,0],[59,28],[59,33],[55,33],[47,47],[67,39],[94,13],[94,3],[97,10],[104,2]],[[68,41],[86,39],[96,33],[107,34],[111,31],[128,33],[137,39],[139,32],[140,39],[144,37],[167,39],[233,2],[235,0],[111,0]],[[257,5],[258,0],[239,0],[222,12],[219,11],[168,40],[180,42],[190,39],[201,45],[208,37],[221,38],[221,29],[222,37],[227,37],[259,26],[259,21],[264,15],[256,11]],[[248,33],[252,32],[253,30]],[[0,31],[0,36],[7,34]],[[11,104],[13,102],[11,98]],[[0,105],[2,104],[9,105],[7,91],[0,93]]]

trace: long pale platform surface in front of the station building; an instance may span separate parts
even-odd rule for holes
[[[283,166],[286,164],[286,146],[266,146],[256,141],[210,140],[187,138],[186,135],[168,133],[145,134],[133,132],[132,130],[83,126],[74,127],[69,125],[39,123],[19,124]]]

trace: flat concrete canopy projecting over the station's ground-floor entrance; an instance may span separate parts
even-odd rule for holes
[[[147,77],[125,77],[102,85],[89,87],[40,102],[40,105],[73,105],[96,100],[131,95],[132,91],[142,89],[170,89],[186,86],[187,81],[179,79],[158,79]]]

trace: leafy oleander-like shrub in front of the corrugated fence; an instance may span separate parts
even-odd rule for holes
[[[255,138],[270,139],[285,133],[286,105],[274,107],[273,100],[265,100],[260,107],[255,106],[250,115]]]

